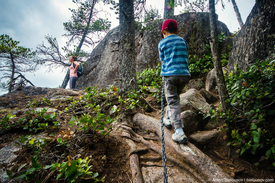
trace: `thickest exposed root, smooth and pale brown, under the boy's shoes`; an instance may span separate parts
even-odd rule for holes
[[[143,130],[154,130],[158,134],[158,136],[161,136],[161,124],[160,121],[156,120],[155,118],[145,116],[141,113],[136,113],[133,117],[133,123],[142,128]],[[132,132],[130,133],[132,134]],[[201,150],[199,150],[193,144],[189,142],[180,145],[174,143],[172,141],[173,133],[174,131],[172,130],[168,130],[166,128],[164,129],[164,140],[166,142],[166,145],[170,146],[171,148],[174,148],[174,150],[185,160],[187,164],[190,164],[192,168],[197,170],[197,172],[200,172],[205,177],[205,180],[232,179],[232,177],[229,176],[226,172],[224,172],[219,166],[217,166],[217,164],[215,164],[215,162],[213,162],[211,158],[206,156],[203,152],[201,152]],[[142,143],[146,143],[144,141],[145,140],[141,139]],[[189,167],[187,169],[192,170]]]

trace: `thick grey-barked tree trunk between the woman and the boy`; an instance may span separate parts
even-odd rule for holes
[[[133,0],[119,0],[119,94],[137,89]]]

